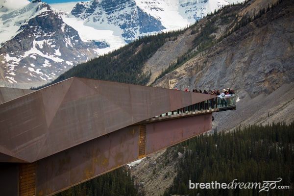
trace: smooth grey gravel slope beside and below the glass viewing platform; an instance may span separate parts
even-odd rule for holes
[[[250,98],[246,92],[237,92],[240,100],[236,111],[214,114],[213,129],[229,130],[250,124],[268,124],[294,121],[294,83],[284,84],[270,95]]]

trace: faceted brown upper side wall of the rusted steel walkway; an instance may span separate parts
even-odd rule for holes
[[[0,153],[33,162],[211,97],[172,89],[70,78],[0,104]]]

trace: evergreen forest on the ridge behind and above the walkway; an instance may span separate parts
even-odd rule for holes
[[[244,3],[227,5],[214,13],[208,14],[206,16],[207,22],[204,25],[200,26],[199,23],[196,23],[188,28],[178,31],[159,33],[157,35],[137,39],[121,49],[114,50],[88,62],[78,64],[69,71],[58,76],[53,82],[32,89],[39,89],[73,76],[146,85],[152,72],[152,70],[150,70],[147,73],[142,73],[144,64],[147,60],[167,41],[176,40],[178,35],[186,33],[187,29],[191,29],[191,34],[195,34],[193,49],[182,56],[178,56],[177,61],[171,63],[166,70],[163,70],[163,72],[155,79],[156,81],[158,78],[161,78],[165,74],[170,73],[183,65],[199,52],[207,52],[207,49],[212,49],[225,37],[255,19],[260,18],[283,0],[278,0],[273,5],[268,5],[267,8],[261,9],[252,18],[245,15],[239,20],[240,18],[236,10],[246,6],[249,1],[250,0],[246,0]],[[228,25],[227,33],[216,39],[215,33],[218,30],[217,26],[219,24]]]

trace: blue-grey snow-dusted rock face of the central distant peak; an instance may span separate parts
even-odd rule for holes
[[[97,29],[113,26],[126,42],[133,41],[144,33],[159,32],[166,28],[159,19],[138,7],[135,0],[79,2],[71,15],[84,20],[85,25],[95,26]]]

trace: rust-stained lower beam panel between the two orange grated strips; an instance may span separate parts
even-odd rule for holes
[[[53,195],[138,159],[139,125],[37,161],[37,195]]]

